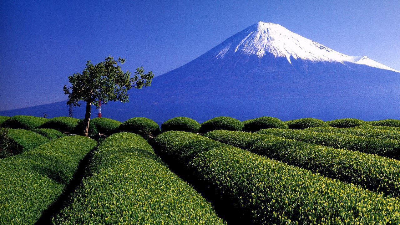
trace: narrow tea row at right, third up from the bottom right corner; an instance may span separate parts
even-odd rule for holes
[[[348,149],[400,159],[400,143],[396,140],[366,138],[339,133],[318,133],[307,130],[264,129],[257,133],[285,137],[317,145],[330,146],[336,149]]]

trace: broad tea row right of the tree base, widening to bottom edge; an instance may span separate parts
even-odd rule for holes
[[[105,139],[89,173],[54,224],[224,224],[139,135]]]

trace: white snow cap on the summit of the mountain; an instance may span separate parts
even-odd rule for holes
[[[279,24],[261,21],[217,46],[215,57],[225,58],[227,55],[235,53],[255,54],[259,58],[270,53],[275,57],[285,57],[290,63],[292,63],[291,57],[312,62],[352,62],[399,72],[367,56],[348,56],[295,34]]]

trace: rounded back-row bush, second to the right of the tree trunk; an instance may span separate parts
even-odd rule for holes
[[[154,137],[161,133],[160,126],[158,126],[156,122],[145,117],[128,119],[120,125],[120,131],[135,133],[144,138],[148,138],[149,135]]]

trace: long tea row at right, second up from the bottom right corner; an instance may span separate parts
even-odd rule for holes
[[[204,136],[314,173],[318,171],[326,177],[400,196],[400,161],[394,159],[239,131],[211,131]]]

